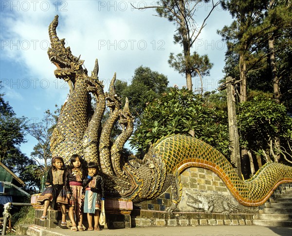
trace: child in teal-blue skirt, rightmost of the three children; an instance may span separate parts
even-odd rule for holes
[[[97,163],[88,163],[88,176],[83,181],[85,191],[84,212],[87,213],[88,230],[93,230],[92,217],[94,215],[94,230],[99,230],[98,220],[101,209],[101,200],[105,200],[104,182],[97,175]]]

